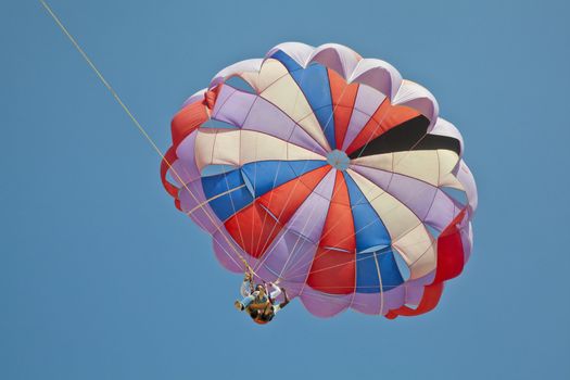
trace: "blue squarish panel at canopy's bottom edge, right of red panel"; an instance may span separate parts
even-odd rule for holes
[[[356,256],[356,293],[385,292],[404,282],[391,249]]]

